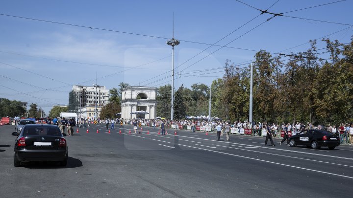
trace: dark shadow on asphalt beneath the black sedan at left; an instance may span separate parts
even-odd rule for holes
[[[69,157],[66,166],[59,166],[58,162],[27,162],[22,164],[28,169],[70,169],[82,166],[82,161],[74,157]]]

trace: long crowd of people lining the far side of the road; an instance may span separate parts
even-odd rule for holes
[[[42,120],[43,121],[43,120]],[[47,117],[44,122],[47,124],[51,124],[51,120],[49,117]],[[336,125],[330,125],[328,126],[323,126],[323,125],[317,125],[314,126],[312,123],[307,122],[306,124],[304,123],[287,123],[285,124],[282,122],[281,124],[270,124],[267,122],[248,122],[248,121],[235,121],[235,122],[230,122],[228,121],[221,121],[221,120],[213,120],[213,121],[207,121],[207,120],[198,120],[198,119],[193,119],[193,120],[162,120],[162,119],[132,119],[132,120],[124,120],[122,118],[116,118],[116,119],[105,119],[105,120],[100,120],[100,119],[78,119],[77,123],[75,122],[75,119],[71,118],[69,120],[66,120],[65,118],[54,118],[52,120],[52,123],[54,125],[58,125],[59,128],[62,130],[63,133],[65,133],[65,127],[67,126],[67,134],[72,135],[73,134],[73,126],[78,126],[78,127],[83,127],[86,128],[86,123],[88,124],[87,127],[90,127],[91,123],[93,124],[98,124],[98,123],[105,123],[106,129],[114,129],[115,124],[118,125],[124,125],[124,124],[132,124],[134,127],[134,132],[137,132],[137,129],[139,132],[141,132],[141,126],[148,126],[148,127],[160,127],[162,130],[162,134],[165,134],[165,128],[171,128],[172,125],[177,125],[178,128],[181,126],[183,130],[187,130],[188,126],[191,126],[191,131],[195,132],[197,126],[198,127],[210,127],[211,132],[220,132],[220,135],[225,133],[227,135],[227,140],[229,140],[229,133],[231,129],[233,132],[240,134],[242,130],[244,129],[251,129],[252,135],[257,135],[257,136],[264,136],[264,133],[266,132],[266,142],[267,139],[270,139],[272,145],[272,137],[279,138],[281,137],[281,132],[284,132],[284,137],[286,135],[295,135],[299,132],[302,132],[303,130],[309,130],[309,129],[317,129],[317,130],[327,130],[329,132],[332,132],[336,134],[337,136],[340,137],[340,142],[341,144],[353,144],[353,124],[352,123],[341,123],[338,126]],[[179,128],[180,129],[180,128]],[[190,127],[189,127],[190,129]],[[164,133],[163,133],[164,132]],[[284,141],[281,141],[283,143]]]

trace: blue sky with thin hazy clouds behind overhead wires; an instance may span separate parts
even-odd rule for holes
[[[277,0],[242,1],[265,10]],[[284,13],[334,1],[279,0],[269,12]],[[286,15],[352,24],[352,7],[352,0],[346,0]],[[176,89],[181,84],[188,88],[194,83],[210,85],[223,75],[218,68],[226,59],[239,64],[251,61],[256,53],[218,46],[206,49],[209,45],[205,44],[216,43],[260,14],[236,0],[1,0],[0,14],[93,29],[0,15],[0,97],[37,103],[48,114],[53,105],[68,104],[73,85],[92,86],[96,73],[97,83],[106,88],[117,88],[120,82],[151,87],[171,83],[172,49],[165,44],[167,39],[154,37],[172,37],[173,12],[174,35],[182,40],[175,47],[180,77],[175,80]],[[258,16],[217,44],[235,40],[227,46],[269,52],[291,48],[282,53],[296,53],[305,51],[310,39],[339,31],[328,38],[349,43],[353,35],[350,25],[280,16],[265,22],[270,17]],[[325,47],[320,40],[318,48]],[[321,57],[328,58],[328,54]],[[213,70],[200,71],[205,69]]]

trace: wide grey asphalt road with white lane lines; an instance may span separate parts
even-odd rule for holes
[[[110,128],[110,127],[109,127]],[[66,136],[67,167],[13,166],[14,126],[0,127],[0,197],[352,197],[353,146],[265,146],[263,137],[105,125]],[[99,133],[97,133],[97,129]],[[121,130],[121,134],[119,133]],[[131,130],[131,134],[129,133]],[[147,134],[149,130],[150,134]],[[268,143],[270,145],[270,143]]]

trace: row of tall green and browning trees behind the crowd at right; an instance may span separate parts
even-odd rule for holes
[[[306,51],[289,54],[285,60],[266,50],[254,55],[254,121],[353,122],[353,37],[350,44],[323,42],[330,60],[318,57],[316,40],[309,41]],[[209,89],[212,116],[248,120],[250,66],[236,66],[230,60],[226,60],[223,78],[214,80],[210,88],[193,84],[176,91],[176,119],[206,115]],[[157,115],[170,116],[170,93],[170,85],[158,88]]]

